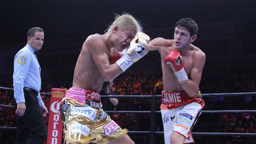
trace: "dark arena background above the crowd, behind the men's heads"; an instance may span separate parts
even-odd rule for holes
[[[198,24],[193,43],[206,54],[206,73],[228,63],[255,72],[255,1],[0,1],[0,74],[13,72],[13,58],[25,46],[31,27],[44,29],[39,63],[45,79],[54,72],[72,80],[85,39],[104,31],[114,13],[132,14],[151,39],[173,38],[175,23],[185,17]],[[160,55],[150,52],[133,67],[147,66],[161,74]],[[248,64],[247,64],[248,63]]]

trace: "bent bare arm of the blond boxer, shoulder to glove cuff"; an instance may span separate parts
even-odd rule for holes
[[[111,81],[123,72],[116,63],[110,65],[105,43],[99,36],[91,35],[83,44],[84,47],[89,49],[94,63],[106,80]]]

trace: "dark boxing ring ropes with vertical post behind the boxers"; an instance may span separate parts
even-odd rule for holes
[[[0,89],[13,90],[12,88],[0,87]],[[47,93],[40,93],[40,95],[50,96]],[[212,97],[212,96],[223,96],[223,97],[233,97],[233,96],[256,96],[256,92],[246,92],[246,93],[211,93],[211,94],[202,94],[203,97]],[[101,96],[104,98],[151,98],[151,111],[105,111],[109,114],[145,114],[150,113],[150,131],[128,131],[129,134],[149,134],[150,143],[154,142],[154,135],[161,134],[164,132],[155,132],[155,114],[161,113],[161,111],[156,111],[156,98],[161,98],[162,95],[108,95]],[[2,105],[0,107],[14,108],[14,106]],[[211,111],[202,111],[202,114],[220,114],[220,113],[256,113],[256,110],[211,110]],[[0,130],[17,130],[17,127],[0,127]],[[256,136],[256,133],[211,133],[211,132],[192,132],[194,136]]]

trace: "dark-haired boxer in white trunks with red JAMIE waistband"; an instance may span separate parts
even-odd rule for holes
[[[149,42],[149,50],[161,55],[164,139],[165,144],[194,143],[191,131],[204,107],[199,83],[205,54],[191,44],[198,31],[194,20],[183,18],[174,28],[174,40],[155,38]]]

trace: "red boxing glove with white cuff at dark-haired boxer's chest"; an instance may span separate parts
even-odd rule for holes
[[[188,80],[188,76],[184,70],[184,63],[182,61],[180,52],[176,50],[169,52],[164,60],[164,63],[172,68],[179,83],[184,83]]]

